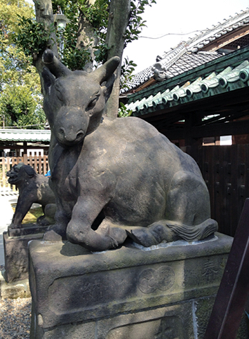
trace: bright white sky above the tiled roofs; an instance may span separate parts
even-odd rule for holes
[[[147,6],[142,15],[147,27],[143,28],[137,41],[124,49],[123,57],[138,65],[137,73],[153,65],[157,55],[162,56],[165,51],[196,34],[189,33],[212,28],[212,25],[216,26],[246,8],[249,8],[249,0],[156,0],[156,4]]]

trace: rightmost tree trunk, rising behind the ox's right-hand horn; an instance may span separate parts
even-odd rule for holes
[[[122,53],[124,50],[124,33],[129,24],[131,11],[130,0],[111,0],[109,21],[107,28],[107,46],[109,47],[108,59],[120,57],[120,66],[116,71],[116,80],[113,84],[113,91],[107,101],[105,115],[109,118],[118,116],[118,98],[120,95],[120,73],[122,64]]]

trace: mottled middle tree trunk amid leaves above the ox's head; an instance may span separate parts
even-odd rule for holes
[[[94,5],[96,0],[88,0],[86,6]],[[77,32],[77,44],[76,48],[84,48],[88,46],[89,52],[91,54],[91,62],[87,62],[84,66],[84,71],[91,72],[93,71],[93,59],[94,59],[94,46],[98,44],[98,37],[95,34],[91,24],[84,17],[84,13],[80,11],[79,17],[79,28]]]

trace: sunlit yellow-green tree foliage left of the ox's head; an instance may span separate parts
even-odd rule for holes
[[[33,8],[23,0],[0,0],[0,13],[0,126],[42,129],[39,75],[30,55],[26,57],[15,44],[19,16],[32,20]]]

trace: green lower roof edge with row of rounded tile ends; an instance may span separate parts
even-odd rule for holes
[[[133,116],[234,91],[249,84],[249,46],[129,95]]]

